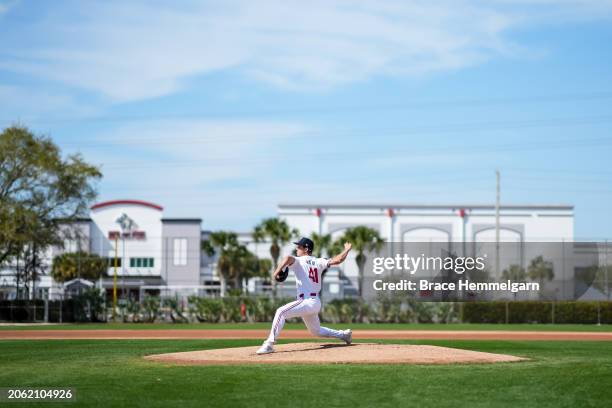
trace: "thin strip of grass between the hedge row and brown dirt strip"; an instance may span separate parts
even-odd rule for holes
[[[296,320],[297,321],[297,320]],[[610,324],[427,324],[427,323],[324,323],[331,328],[344,329],[350,327],[354,330],[525,330],[525,331],[612,331]],[[0,325],[0,330],[100,330],[100,329],[269,329],[270,323],[66,323],[50,325]],[[304,324],[287,323],[286,329],[304,329]]]

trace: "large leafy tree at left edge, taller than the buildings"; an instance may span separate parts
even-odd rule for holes
[[[0,133],[0,152],[0,264],[61,246],[60,226],[87,213],[99,169],[21,126]]]

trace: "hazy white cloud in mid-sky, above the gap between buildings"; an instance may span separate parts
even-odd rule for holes
[[[120,125],[81,142],[80,149],[103,164],[105,183],[198,191],[211,183],[255,180],[308,131],[291,122],[158,120]]]

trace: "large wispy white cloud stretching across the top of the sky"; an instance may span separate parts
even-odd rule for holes
[[[31,42],[2,47],[0,67],[118,102],[171,94],[193,76],[227,69],[318,90],[460,69],[521,50],[513,28],[612,10],[606,0],[75,4],[78,15],[60,9],[33,27],[40,35]]]

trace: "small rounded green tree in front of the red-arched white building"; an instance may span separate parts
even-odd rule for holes
[[[82,278],[90,281],[100,279],[108,269],[105,258],[88,252],[67,252],[53,258],[51,276],[57,282]]]

